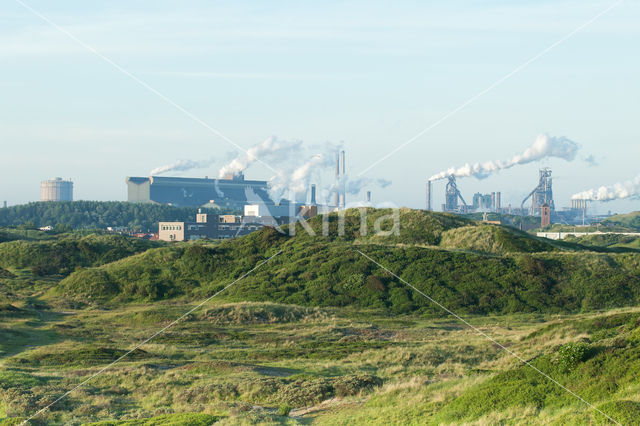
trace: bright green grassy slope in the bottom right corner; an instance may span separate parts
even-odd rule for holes
[[[622,424],[638,424],[640,402],[629,400],[628,389],[637,386],[640,363],[640,314],[612,315],[597,320],[574,321],[553,326],[528,336],[525,341],[553,339],[560,332],[588,334],[579,341],[549,348],[532,360],[532,365],[558,380],[563,386],[597,404]],[[604,380],[594,380],[594,378]],[[606,378],[606,379],[605,379]],[[547,410],[570,405],[575,397],[527,365],[507,370],[468,389],[446,405],[432,424],[471,422],[495,411],[509,409]],[[599,412],[585,413],[574,423],[588,424],[593,415],[599,424],[608,424]],[[565,414],[564,420],[569,420]]]

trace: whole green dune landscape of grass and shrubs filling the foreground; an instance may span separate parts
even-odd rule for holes
[[[640,253],[459,216],[357,210],[225,242],[8,230],[0,425],[623,424],[640,418]],[[363,232],[366,227],[367,232]],[[611,244],[609,244],[611,243]],[[624,249],[624,250],[623,250]],[[622,308],[624,307],[624,308]],[[5,420],[3,420],[5,419]]]

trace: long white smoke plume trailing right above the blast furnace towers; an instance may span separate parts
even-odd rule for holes
[[[576,158],[580,146],[574,141],[561,137],[553,137],[547,134],[538,135],[535,142],[521,154],[514,155],[510,160],[505,161],[487,161],[484,163],[465,164],[462,167],[452,167],[435,174],[429,180],[446,179],[450,175],[456,177],[475,177],[484,179],[489,175],[500,170],[510,169],[511,167],[532,163],[544,158],[556,157],[563,158],[567,161],[573,161]]]

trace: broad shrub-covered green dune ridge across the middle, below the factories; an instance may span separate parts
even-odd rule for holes
[[[371,211],[367,226],[388,213]],[[201,298],[282,250],[268,268],[224,297],[438,312],[358,249],[462,312],[567,312],[640,302],[640,257],[635,253],[595,253],[569,244],[563,248],[510,228],[443,214],[403,211],[400,219],[400,234],[391,236],[361,236],[359,217],[351,211],[342,236],[336,236],[334,214],[330,236],[311,237],[297,225],[295,236],[268,228],[218,245],[151,249],[74,272],[56,293],[95,303]],[[309,224],[321,232],[322,218]]]

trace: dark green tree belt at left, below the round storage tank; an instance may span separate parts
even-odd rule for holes
[[[36,202],[0,209],[0,226],[65,225],[73,229],[105,229],[111,226],[157,232],[158,222],[193,221],[197,210],[195,207],[120,201]],[[229,210],[216,212],[236,213]]]

